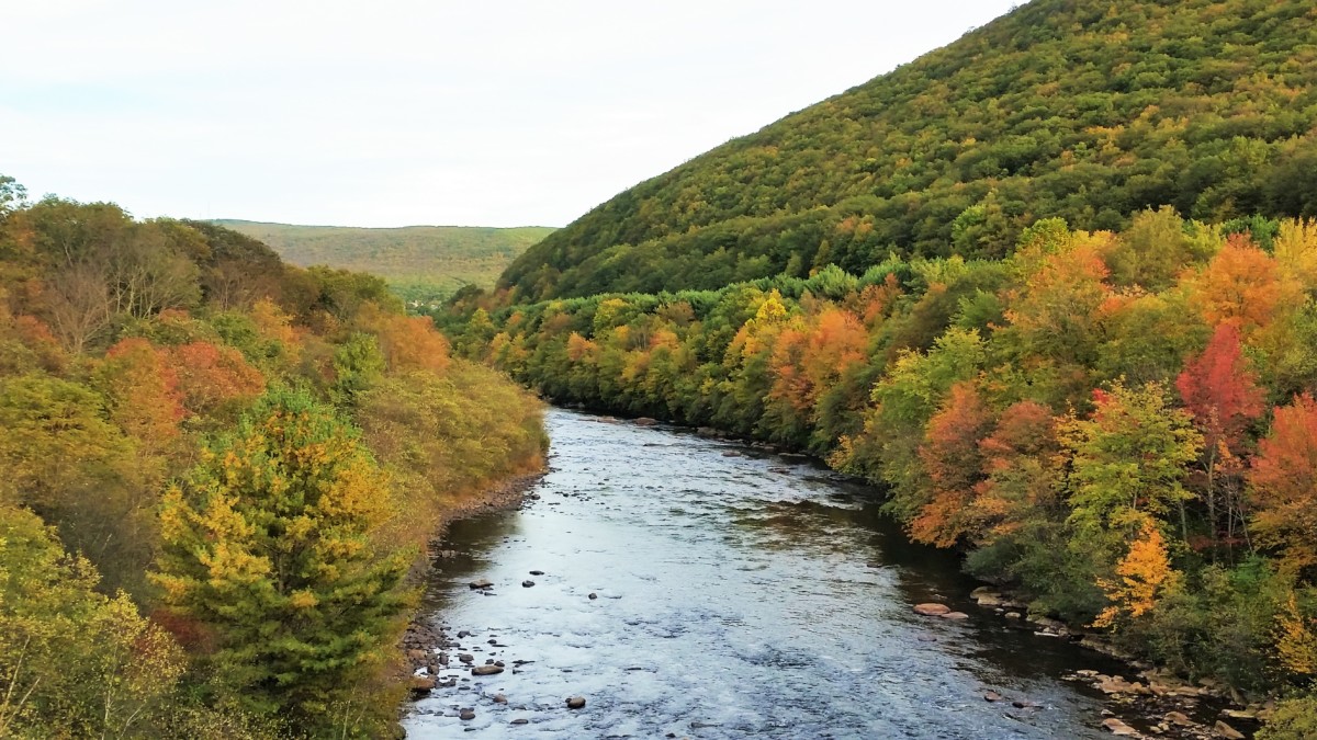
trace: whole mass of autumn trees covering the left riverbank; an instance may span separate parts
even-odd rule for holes
[[[395,735],[410,573],[543,450],[379,278],[0,176],[0,736]]]

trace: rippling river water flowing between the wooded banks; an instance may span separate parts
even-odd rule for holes
[[[547,423],[540,498],[449,532],[428,608],[473,635],[410,737],[1109,736],[1101,697],[1060,675],[1119,666],[976,607],[956,558],[907,542],[872,490],[680,431]],[[928,600],[971,619],[911,612]],[[469,677],[458,652],[507,670]]]

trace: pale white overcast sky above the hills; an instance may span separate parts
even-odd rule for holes
[[[138,217],[564,225],[1010,0],[40,0],[0,174]]]

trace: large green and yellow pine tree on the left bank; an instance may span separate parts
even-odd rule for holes
[[[279,390],[166,492],[154,581],[246,708],[312,727],[387,650],[408,602],[407,553],[371,537],[387,486],[353,427]]]

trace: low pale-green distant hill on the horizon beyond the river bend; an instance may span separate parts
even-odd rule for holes
[[[361,229],[236,219],[213,223],[270,245],[294,265],[373,273],[404,298],[424,302],[445,298],[468,283],[493,286],[512,258],[553,233],[549,226]]]

